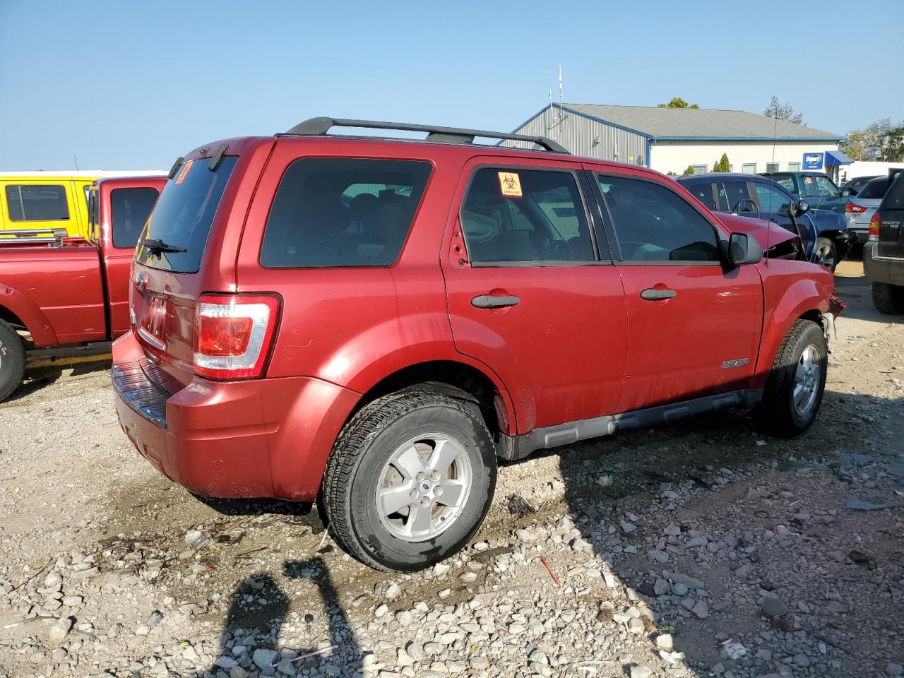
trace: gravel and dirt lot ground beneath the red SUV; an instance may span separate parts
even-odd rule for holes
[[[475,543],[410,576],[308,506],[171,485],[106,365],[35,373],[0,405],[0,676],[898,675],[904,512],[849,505],[904,505],[904,323],[859,263],[837,286],[805,436],[731,412],[504,466]]]

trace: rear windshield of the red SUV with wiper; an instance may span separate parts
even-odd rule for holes
[[[135,252],[137,263],[174,273],[195,273],[201,268],[213,217],[236,160],[237,156],[226,155],[215,172],[208,170],[210,158],[180,165],[174,178],[166,182],[141,234]],[[155,240],[157,247],[151,247],[150,240]],[[160,248],[161,244],[165,247]]]

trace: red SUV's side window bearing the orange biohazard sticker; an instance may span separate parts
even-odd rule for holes
[[[483,167],[461,207],[472,261],[592,261],[578,184],[569,172]]]

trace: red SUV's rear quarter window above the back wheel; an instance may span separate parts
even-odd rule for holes
[[[391,265],[399,259],[430,166],[369,158],[296,160],[273,199],[261,265]]]

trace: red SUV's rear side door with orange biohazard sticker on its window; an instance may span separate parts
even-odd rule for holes
[[[621,279],[578,163],[473,158],[447,223],[457,351],[509,389],[526,433],[615,411],[627,346]]]

